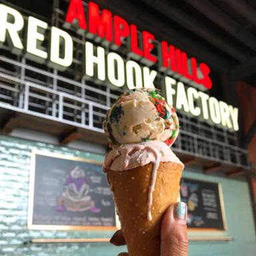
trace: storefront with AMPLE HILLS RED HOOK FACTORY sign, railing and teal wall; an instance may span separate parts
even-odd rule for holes
[[[181,132],[173,151],[185,163],[183,177],[222,185],[227,230],[191,231],[189,255],[205,255],[205,251],[207,255],[246,255],[255,251],[248,183],[243,177],[228,178],[251,168],[247,151],[239,147],[239,109],[212,95],[209,89],[215,87],[215,80],[209,78],[210,68],[188,58],[179,45],[172,48],[168,43],[166,48],[167,42],[157,39],[153,44],[151,33],[134,30],[133,21],[127,23],[121,16],[113,19],[112,35],[112,30],[102,25],[109,24],[111,7],[105,11],[101,39],[100,30],[96,28],[94,35],[95,28],[87,21],[94,19],[96,23],[97,10],[103,7],[90,3],[89,13],[87,3],[80,4],[55,1],[48,17],[29,13],[23,6],[0,5],[3,19],[10,13],[15,17],[13,24],[17,21],[16,27],[8,30],[11,43],[7,37],[0,39],[2,254],[115,255],[123,250],[103,242],[31,243],[32,239],[107,238],[113,233],[28,230],[31,152],[37,149],[103,161],[107,140],[102,121],[107,109],[127,87],[153,86],[161,89],[179,113]],[[77,13],[80,16],[75,16]],[[5,31],[7,23],[11,21],[5,19]],[[126,24],[129,35],[120,29]],[[85,32],[86,26],[91,32]],[[176,67],[169,62],[172,49]],[[213,172],[217,175],[207,175]],[[199,237],[225,239],[203,241]]]

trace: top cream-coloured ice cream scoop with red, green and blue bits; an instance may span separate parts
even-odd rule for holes
[[[179,121],[156,89],[126,91],[107,113],[104,129],[113,145],[163,141],[172,145]]]

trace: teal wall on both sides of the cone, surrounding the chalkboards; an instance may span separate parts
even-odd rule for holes
[[[111,237],[111,231],[29,231],[27,230],[27,199],[31,151],[38,149],[103,161],[103,155],[55,147],[0,136],[0,255],[117,255],[125,247],[99,244],[23,245],[31,238],[87,238]],[[199,171],[197,169],[197,171]],[[190,236],[231,236],[229,242],[191,242],[189,255],[252,255],[256,251],[253,213],[247,183],[206,176],[185,170],[183,177],[221,182],[228,230],[225,233],[189,233]]]

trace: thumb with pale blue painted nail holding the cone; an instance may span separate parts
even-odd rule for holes
[[[187,205],[171,205],[161,225],[161,256],[187,256]]]

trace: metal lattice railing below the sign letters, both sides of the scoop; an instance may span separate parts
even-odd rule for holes
[[[0,63],[3,63],[0,69],[0,107],[103,133],[101,123],[118,93],[113,94],[105,85],[89,85],[83,78],[73,81],[59,75],[55,69],[47,71],[33,67],[24,58],[18,61],[0,56]],[[12,65],[13,69],[5,69],[5,64]],[[18,70],[13,71],[15,69]],[[27,75],[27,71],[35,73],[35,77]],[[51,81],[43,81],[45,77]],[[229,138],[237,140],[235,133],[209,128],[209,125],[185,115],[181,115],[180,121],[184,127],[181,127],[181,135],[175,142],[175,151],[249,168],[247,150],[229,144]],[[191,127],[201,129],[205,134],[193,133]],[[206,135],[208,130],[211,131],[209,137]],[[219,136],[223,139],[217,139]]]

